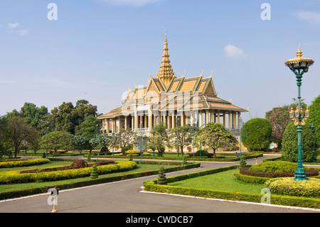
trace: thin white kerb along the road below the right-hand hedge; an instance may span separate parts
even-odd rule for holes
[[[162,194],[162,195],[168,195],[168,196],[181,196],[181,197],[187,197],[187,198],[193,198],[193,199],[207,199],[207,200],[213,200],[213,201],[224,201],[224,202],[232,202],[232,203],[238,203],[238,204],[252,204],[252,205],[261,205],[261,206],[274,206],[279,208],[291,208],[296,210],[306,210],[306,211],[319,211],[320,209],[317,208],[307,208],[307,207],[298,207],[298,206],[282,206],[282,205],[274,205],[274,204],[259,204],[259,203],[253,203],[253,202],[246,202],[246,201],[234,201],[234,200],[227,200],[227,199],[213,199],[213,198],[205,198],[205,197],[198,197],[198,196],[186,196],[181,194],[168,194],[168,193],[161,193],[161,192],[154,192],[154,191],[140,191],[141,193],[150,193],[150,194]]]

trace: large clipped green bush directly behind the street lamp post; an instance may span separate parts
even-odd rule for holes
[[[311,123],[306,122],[302,127],[302,159],[304,162],[312,162],[314,144]],[[298,160],[298,133],[297,126],[290,122],[283,134],[282,155],[284,160],[297,162]]]

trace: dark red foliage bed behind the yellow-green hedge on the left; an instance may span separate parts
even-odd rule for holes
[[[84,160],[76,160],[70,166],[65,166],[63,168],[59,169],[29,169],[29,170],[23,170],[20,171],[20,174],[33,174],[33,173],[40,173],[40,172],[45,172],[45,171],[59,171],[59,170],[66,170],[66,169],[80,169],[80,168],[85,168],[85,167],[92,167],[93,165],[96,166],[102,166],[106,164],[117,164],[117,162],[114,161],[105,161],[105,162],[95,162],[91,164],[87,164]]]

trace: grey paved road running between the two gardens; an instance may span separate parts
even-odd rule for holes
[[[264,158],[259,158],[258,163],[262,162]],[[247,164],[255,163],[255,159],[247,160]],[[225,167],[230,164],[238,164],[238,162],[203,162],[201,163],[201,168],[168,173],[166,176]],[[60,191],[56,209],[58,213],[319,213],[319,210],[241,204],[231,201],[141,192],[143,181],[156,179],[156,177],[147,176],[139,179]],[[0,213],[50,213],[53,207],[47,204],[47,199],[48,194],[43,194],[31,198],[0,202]]]

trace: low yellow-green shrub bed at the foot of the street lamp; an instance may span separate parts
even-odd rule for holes
[[[310,178],[307,181],[294,181],[292,177],[270,179],[265,186],[271,192],[291,196],[320,196],[320,179]]]

